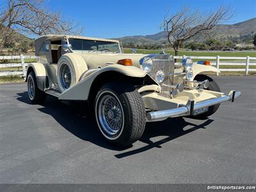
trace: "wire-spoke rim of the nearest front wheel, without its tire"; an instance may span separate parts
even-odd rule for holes
[[[115,136],[122,129],[124,111],[120,101],[112,95],[105,93],[99,98],[98,119],[104,132],[109,136]]]

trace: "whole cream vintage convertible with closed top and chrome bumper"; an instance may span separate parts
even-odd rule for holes
[[[26,81],[32,103],[45,95],[88,101],[106,140],[130,145],[142,136],[146,122],[175,116],[206,118],[221,102],[241,95],[220,92],[205,72],[210,65],[170,54],[124,54],[118,40],[45,35],[35,40],[37,63]]]

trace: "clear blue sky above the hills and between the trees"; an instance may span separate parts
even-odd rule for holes
[[[0,0],[3,3],[4,0]],[[84,26],[84,36],[102,38],[152,35],[160,31],[164,15],[182,6],[209,12],[230,5],[236,15],[234,24],[256,17],[256,0],[45,0],[52,10]]]

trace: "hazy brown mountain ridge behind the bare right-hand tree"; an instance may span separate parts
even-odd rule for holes
[[[236,24],[220,24],[212,30],[212,36],[218,40],[232,40],[235,38],[246,38],[256,33],[256,17],[253,19],[238,22]],[[134,35],[115,38],[123,44],[161,44],[166,42],[164,31],[154,35]],[[196,42],[202,42],[204,39],[200,36],[193,38]]]

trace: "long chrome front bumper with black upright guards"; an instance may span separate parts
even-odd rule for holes
[[[194,100],[189,100],[186,106],[182,106],[175,109],[168,109],[163,111],[154,111],[147,113],[147,120],[154,121],[159,119],[164,119],[172,116],[179,116],[179,115],[193,115],[196,109],[201,109],[209,106],[214,106],[221,102],[225,102],[227,100],[231,100],[234,102],[236,97],[239,97],[241,92],[230,91],[228,95],[223,95],[222,97],[218,97],[215,99],[209,99],[202,102],[198,102],[195,104]]]

